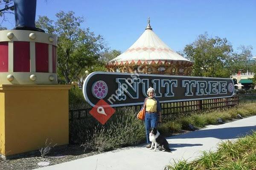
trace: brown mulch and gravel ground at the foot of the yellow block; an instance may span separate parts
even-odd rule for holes
[[[68,145],[65,147],[54,147],[49,155],[45,158],[41,157],[41,153],[26,155],[16,159],[3,160],[0,159],[0,170],[32,170],[39,168],[38,162],[50,162],[49,165],[60,164],[75,159],[84,158],[98,154],[99,152],[91,152],[85,150],[80,145]]]

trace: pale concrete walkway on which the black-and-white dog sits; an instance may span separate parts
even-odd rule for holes
[[[202,130],[167,139],[172,153],[149,150],[144,145],[126,147],[110,152],[77,159],[38,170],[163,170],[174,161],[192,160],[203,150],[216,150],[219,142],[237,139],[256,130],[256,116],[223,125],[210,125]]]

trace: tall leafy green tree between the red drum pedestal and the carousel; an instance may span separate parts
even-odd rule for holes
[[[102,50],[106,50],[101,35],[96,36],[89,28],[81,28],[82,17],[76,17],[73,11],[56,14],[54,22],[46,16],[39,16],[36,27],[58,36],[58,76],[69,84],[80,81],[85,68],[90,68],[99,60]]]

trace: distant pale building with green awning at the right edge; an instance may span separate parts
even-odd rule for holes
[[[253,59],[249,60],[248,65],[256,65],[256,56],[253,57]],[[256,86],[253,85],[253,76],[256,73],[253,73],[248,70],[243,70],[241,69],[238,73],[232,74],[230,78],[236,79],[238,85],[243,85],[243,86],[238,86],[238,88],[244,88],[244,89],[249,89],[249,88],[255,88]]]

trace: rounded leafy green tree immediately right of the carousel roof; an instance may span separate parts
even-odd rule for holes
[[[209,38],[207,33],[199,35],[198,40],[183,50],[186,57],[194,62],[192,75],[205,77],[229,77],[228,61],[232,51],[227,39]]]

